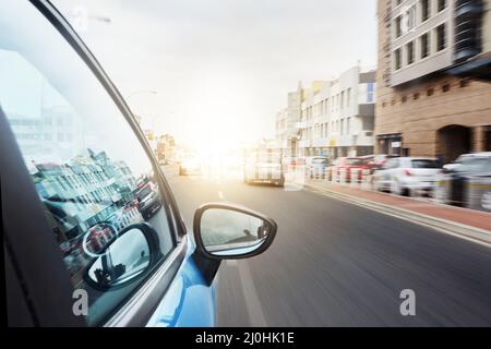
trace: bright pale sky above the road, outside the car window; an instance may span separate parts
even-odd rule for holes
[[[272,137],[299,81],[376,61],[375,0],[53,2],[143,128],[193,146]]]

